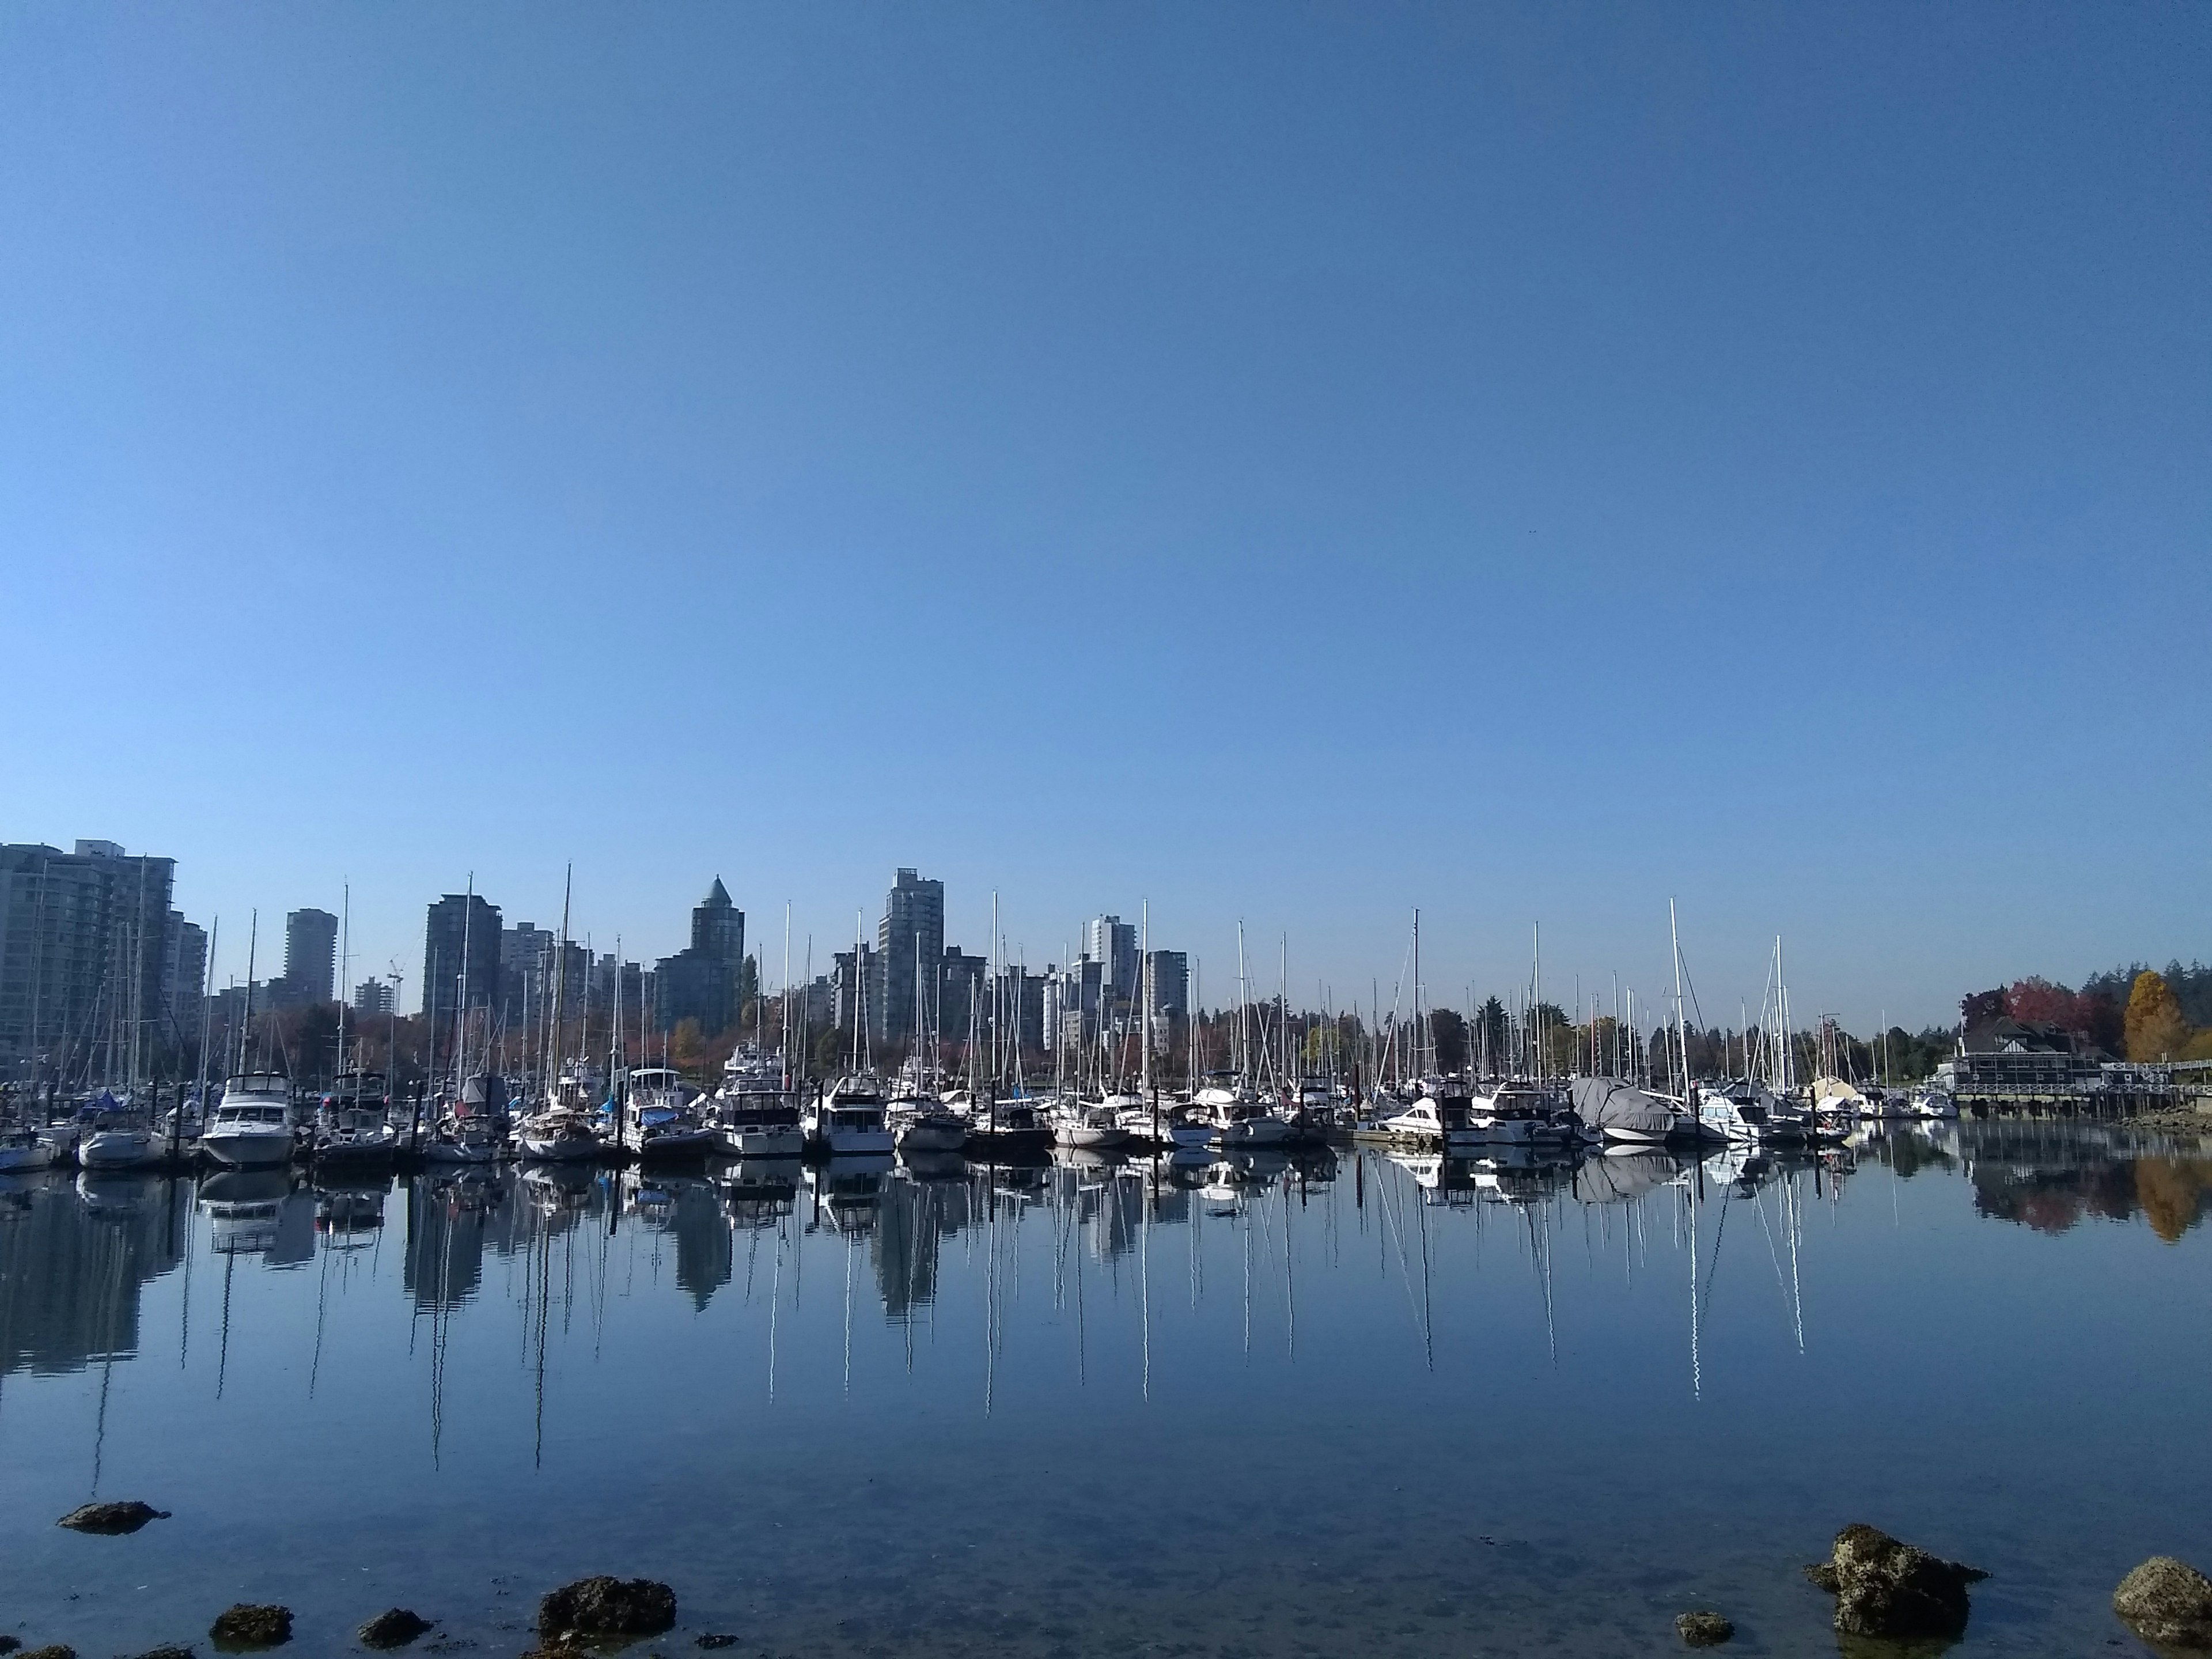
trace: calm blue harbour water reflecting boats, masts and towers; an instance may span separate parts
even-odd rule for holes
[[[2044,1655],[2212,1562],[2197,1144],[1225,1177],[13,1183],[0,1630],[493,1659],[604,1571],[677,1588],[639,1652],[1834,1652],[1796,1568],[1871,1520],[1993,1573],[1962,1655]],[[95,1495],[175,1517],[53,1526]]]

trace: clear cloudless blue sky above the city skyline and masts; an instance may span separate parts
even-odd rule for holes
[[[2212,9],[0,11],[0,838],[1338,1002],[2208,953]]]

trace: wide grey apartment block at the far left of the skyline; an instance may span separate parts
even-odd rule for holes
[[[175,880],[175,858],[113,841],[0,847],[0,1073],[126,1082],[155,1064]]]

